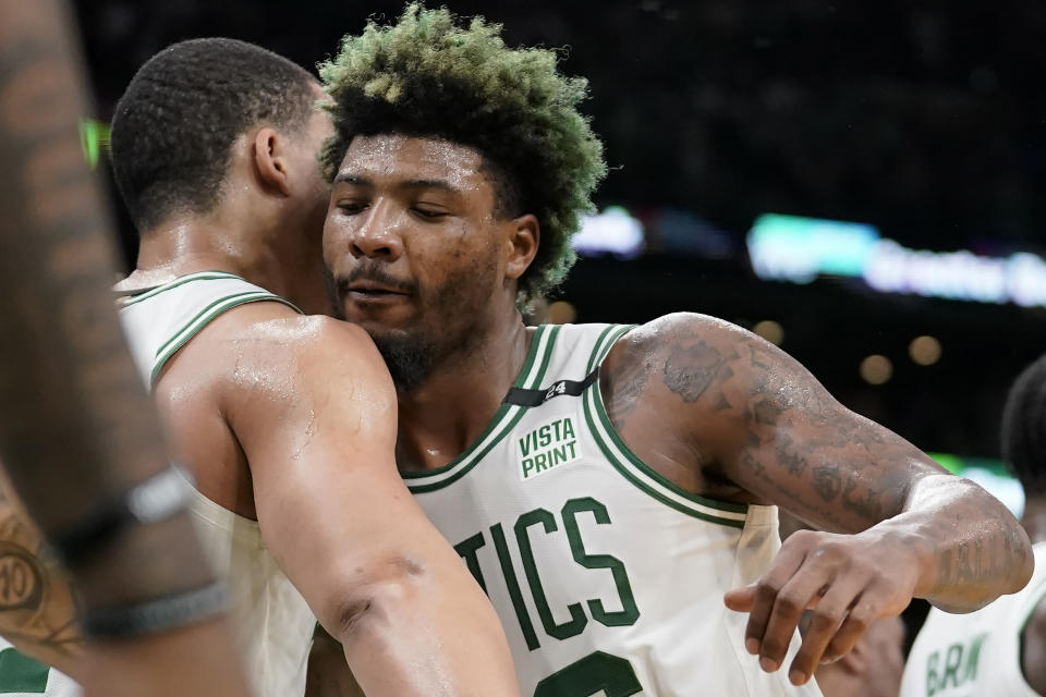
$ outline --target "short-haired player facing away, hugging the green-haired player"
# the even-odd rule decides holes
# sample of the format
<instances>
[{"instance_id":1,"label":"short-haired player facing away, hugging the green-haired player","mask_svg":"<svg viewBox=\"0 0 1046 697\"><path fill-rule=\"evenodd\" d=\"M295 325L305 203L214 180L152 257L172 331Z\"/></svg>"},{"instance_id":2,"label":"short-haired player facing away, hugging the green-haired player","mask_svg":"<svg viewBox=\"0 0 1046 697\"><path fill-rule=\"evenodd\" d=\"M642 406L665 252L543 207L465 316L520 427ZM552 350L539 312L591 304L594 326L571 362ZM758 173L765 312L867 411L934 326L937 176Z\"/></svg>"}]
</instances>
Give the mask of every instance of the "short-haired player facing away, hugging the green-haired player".
<instances>
[{"instance_id":1,"label":"short-haired player facing away, hugging the green-haired player","mask_svg":"<svg viewBox=\"0 0 1046 697\"><path fill-rule=\"evenodd\" d=\"M370 695L515 695L497 615L396 470L378 352L319 316L320 98L297 65L230 39L138 71L112 122L141 232L121 318L195 474L259 694L303 694L315 612Z\"/></svg>"}]
</instances>

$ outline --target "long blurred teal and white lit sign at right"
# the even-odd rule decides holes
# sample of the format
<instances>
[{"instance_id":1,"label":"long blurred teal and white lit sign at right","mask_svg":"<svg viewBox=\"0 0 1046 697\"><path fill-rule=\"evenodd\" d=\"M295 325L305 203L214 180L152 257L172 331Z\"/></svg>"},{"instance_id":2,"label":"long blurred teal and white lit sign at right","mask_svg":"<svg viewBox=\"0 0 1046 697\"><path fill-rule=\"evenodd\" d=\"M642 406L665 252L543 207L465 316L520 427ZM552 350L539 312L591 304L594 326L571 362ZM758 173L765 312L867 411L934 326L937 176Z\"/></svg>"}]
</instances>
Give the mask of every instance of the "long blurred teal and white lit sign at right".
<instances>
[{"instance_id":1,"label":"long blurred teal and white lit sign at right","mask_svg":"<svg viewBox=\"0 0 1046 697\"><path fill-rule=\"evenodd\" d=\"M764 280L841 276L884 293L1046 307L1046 260L1034 254L909 249L874 225L777 213L756 219L747 245L752 269Z\"/></svg>"}]
</instances>

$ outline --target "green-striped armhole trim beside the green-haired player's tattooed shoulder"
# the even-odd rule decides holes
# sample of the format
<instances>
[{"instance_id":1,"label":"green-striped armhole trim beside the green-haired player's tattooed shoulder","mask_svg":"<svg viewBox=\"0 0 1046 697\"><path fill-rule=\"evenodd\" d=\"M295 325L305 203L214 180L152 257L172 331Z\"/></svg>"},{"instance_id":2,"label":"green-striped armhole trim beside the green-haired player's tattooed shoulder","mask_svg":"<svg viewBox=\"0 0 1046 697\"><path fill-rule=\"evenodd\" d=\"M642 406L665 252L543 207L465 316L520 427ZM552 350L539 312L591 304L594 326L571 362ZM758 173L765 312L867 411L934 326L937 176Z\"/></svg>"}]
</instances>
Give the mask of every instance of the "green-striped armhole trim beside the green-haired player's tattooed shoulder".
<instances>
[{"instance_id":1,"label":"green-striped armhole trim beside the green-haired player's tattooed shoulder","mask_svg":"<svg viewBox=\"0 0 1046 697\"><path fill-rule=\"evenodd\" d=\"M610 347L631 326L611 327L612 331L605 330L596 342L596 347L592 352L588 362L588 371L595 369L603 363ZM634 484L645 493L654 497L661 503L676 509L681 513L731 527L744 527L747 517L749 506L744 503L728 503L725 501L715 501L706 499L686 491L676 482L665 478L644 463L625 444L624 440L618 433L610 417L607 414L606 405L603 402L603 394L599 388L599 381L588 389L584 401L585 420L592 430L599 449L603 451L610 464L629 481Z\"/></svg>"}]
</instances>

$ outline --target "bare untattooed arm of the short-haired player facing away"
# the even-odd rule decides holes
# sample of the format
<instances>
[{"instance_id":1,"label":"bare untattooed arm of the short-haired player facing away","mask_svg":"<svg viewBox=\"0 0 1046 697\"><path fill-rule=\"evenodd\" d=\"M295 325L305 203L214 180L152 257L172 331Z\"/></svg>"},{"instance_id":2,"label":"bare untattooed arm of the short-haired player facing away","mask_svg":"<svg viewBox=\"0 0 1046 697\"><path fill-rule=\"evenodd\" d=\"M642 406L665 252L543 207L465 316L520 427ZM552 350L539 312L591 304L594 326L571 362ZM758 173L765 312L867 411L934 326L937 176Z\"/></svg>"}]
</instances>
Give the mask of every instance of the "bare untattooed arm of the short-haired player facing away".
<instances>
[{"instance_id":1,"label":"bare untattooed arm of the short-haired player facing away","mask_svg":"<svg viewBox=\"0 0 1046 697\"><path fill-rule=\"evenodd\" d=\"M391 379L358 328L262 327L227 418L280 566L372 697L518 695L494 609L396 469ZM260 363L254 363L255 358Z\"/></svg>"}]
</instances>

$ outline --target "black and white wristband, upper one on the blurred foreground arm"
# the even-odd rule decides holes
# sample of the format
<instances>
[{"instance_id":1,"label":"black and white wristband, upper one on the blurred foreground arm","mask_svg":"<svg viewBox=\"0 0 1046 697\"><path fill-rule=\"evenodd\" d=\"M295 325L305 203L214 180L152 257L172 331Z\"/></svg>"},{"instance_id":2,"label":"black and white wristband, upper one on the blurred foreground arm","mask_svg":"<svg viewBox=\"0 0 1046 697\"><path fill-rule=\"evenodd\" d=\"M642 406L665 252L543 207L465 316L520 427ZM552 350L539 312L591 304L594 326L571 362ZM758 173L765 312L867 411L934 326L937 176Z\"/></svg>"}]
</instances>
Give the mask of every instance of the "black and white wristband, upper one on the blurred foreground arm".
<instances>
[{"instance_id":1,"label":"black and white wristband, upper one on the blurred foreground arm","mask_svg":"<svg viewBox=\"0 0 1046 697\"><path fill-rule=\"evenodd\" d=\"M191 481L183 467L171 465L51 535L51 546L66 566L75 566L127 528L166 521L184 511Z\"/></svg>"}]
</instances>

